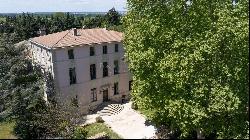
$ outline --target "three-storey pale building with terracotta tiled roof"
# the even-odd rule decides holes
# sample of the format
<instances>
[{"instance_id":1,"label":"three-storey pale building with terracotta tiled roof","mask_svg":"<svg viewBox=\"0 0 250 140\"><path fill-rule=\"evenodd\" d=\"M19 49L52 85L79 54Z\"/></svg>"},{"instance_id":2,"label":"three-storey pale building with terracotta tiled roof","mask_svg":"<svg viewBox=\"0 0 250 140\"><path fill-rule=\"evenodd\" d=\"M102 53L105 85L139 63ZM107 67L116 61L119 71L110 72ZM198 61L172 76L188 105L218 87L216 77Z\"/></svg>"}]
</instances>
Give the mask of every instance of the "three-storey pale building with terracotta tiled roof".
<instances>
[{"instance_id":1,"label":"three-storey pale building with terracotta tiled roof","mask_svg":"<svg viewBox=\"0 0 250 140\"><path fill-rule=\"evenodd\" d=\"M132 77L122 33L72 29L32 38L30 43L33 62L51 73L59 101L75 99L80 110L88 112L102 102L129 98Z\"/></svg>"}]
</instances>

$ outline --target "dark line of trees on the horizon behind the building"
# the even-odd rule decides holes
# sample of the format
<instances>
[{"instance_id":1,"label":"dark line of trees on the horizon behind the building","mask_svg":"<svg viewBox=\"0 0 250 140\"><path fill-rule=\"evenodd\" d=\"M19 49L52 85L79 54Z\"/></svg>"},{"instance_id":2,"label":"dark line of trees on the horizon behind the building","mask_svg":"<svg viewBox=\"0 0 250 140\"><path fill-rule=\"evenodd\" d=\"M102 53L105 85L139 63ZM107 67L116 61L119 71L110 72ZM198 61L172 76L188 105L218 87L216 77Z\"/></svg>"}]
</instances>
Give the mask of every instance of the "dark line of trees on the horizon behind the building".
<instances>
[{"instance_id":1,"label":"dark line of trees on the horizon behind the building","mask_svg":"<svg viewBox=\"0 0 250 140\"><path fill-rule=\"evenodd\" d=\"M40 29L46 34L72 28L107 28L122 31L121 14L115 8L105 15L75 16L70 13L57 12L50 16L39 16L23 13L17 16L6 16L0 21L0 33L7 33L15 42L39 36Z\"/></svg>"}]
</instances>

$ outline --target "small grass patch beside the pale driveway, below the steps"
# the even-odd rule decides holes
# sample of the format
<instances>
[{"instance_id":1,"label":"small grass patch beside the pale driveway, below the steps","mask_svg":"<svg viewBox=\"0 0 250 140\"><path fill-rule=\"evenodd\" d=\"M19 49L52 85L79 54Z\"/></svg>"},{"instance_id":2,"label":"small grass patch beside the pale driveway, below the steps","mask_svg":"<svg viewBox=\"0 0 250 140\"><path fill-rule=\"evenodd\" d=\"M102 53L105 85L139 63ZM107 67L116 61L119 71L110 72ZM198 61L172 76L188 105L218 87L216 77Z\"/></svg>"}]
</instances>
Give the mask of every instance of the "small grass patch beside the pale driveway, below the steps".
<instances>
[{"instance_id":1,"label":"small grass patch beside the pale driveway, below the steps","mask_svg":"<svg viewBox=\"0 0 250 140\"><path fill-rule=\"evenodd\" d=\"M108 134L110 139L121 139L121 137L116 134L113 130L111 130L104 123L93 123L84 127L86 131L88 131L87 137L94 136L95 134L105 132Z\"/></svg>"}]
</instances>

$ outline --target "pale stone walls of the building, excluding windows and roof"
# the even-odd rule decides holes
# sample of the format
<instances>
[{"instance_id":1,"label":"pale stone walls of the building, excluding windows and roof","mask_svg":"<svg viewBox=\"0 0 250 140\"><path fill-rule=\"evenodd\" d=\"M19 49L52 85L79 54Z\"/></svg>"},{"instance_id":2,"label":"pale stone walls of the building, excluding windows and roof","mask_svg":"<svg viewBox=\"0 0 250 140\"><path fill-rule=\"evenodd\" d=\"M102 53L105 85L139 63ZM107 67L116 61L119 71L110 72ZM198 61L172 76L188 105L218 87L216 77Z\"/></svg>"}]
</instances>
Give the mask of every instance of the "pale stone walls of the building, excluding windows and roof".
<instances>
[{"instance_id":1,"label":"pale stone walls of the building, excluding windows and roof","mask_svg":"<svg viewBox=\"0 0 250 140\"><path fill-rule=\"evenodd\" d=\"M119 51L115 52L115 44L119 44ZM108 54L103 54L102 46L107 45ZM88 107L94 107L103 102L101 90L108 89L110 100L120 101L122 95L129 94L129 81L132 79L128 72L128 65L122 60L124 48L122 43L96 44L95 55L90 56L91 46L74 46L47 49L39 44L31 45L34 61L43 65L45 70L53 73L57 97L63 103L70 103L71 98L77 96L80 110L86 112ZM74 50L74 59L68 59L68 49ZM118 60L119 73L114 75L114 60ZM103 78L102 62L108 62L109 76ZM90 79L90 65L96 65L96 79ZM70 85L69 68L76 69L76 84ZM118 95L114 95L114 83L118 82ZM97 101L91 101L91 89L96 88Z\"/></svg>"}]
</instances>

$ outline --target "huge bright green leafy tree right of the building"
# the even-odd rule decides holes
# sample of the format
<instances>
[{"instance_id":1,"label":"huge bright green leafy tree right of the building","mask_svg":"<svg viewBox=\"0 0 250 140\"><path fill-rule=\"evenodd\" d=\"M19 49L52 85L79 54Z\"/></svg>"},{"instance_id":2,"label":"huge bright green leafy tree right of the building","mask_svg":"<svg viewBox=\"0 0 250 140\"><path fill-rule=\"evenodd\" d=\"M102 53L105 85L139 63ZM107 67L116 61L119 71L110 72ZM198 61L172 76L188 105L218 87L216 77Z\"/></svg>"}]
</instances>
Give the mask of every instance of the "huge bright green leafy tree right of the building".
<instances>
[{"instance_id":1,"label":"huge bright green leafy tree right of the building","mask_svg":"<svg viewBox=\"0 0 250 140\"><path fill-rule=\"evenodd\" d=\"M133 98L182 137L248 138L248 1L128 0Z\"/></svg>"}]
</instances>

